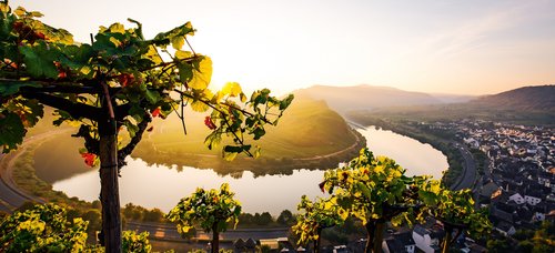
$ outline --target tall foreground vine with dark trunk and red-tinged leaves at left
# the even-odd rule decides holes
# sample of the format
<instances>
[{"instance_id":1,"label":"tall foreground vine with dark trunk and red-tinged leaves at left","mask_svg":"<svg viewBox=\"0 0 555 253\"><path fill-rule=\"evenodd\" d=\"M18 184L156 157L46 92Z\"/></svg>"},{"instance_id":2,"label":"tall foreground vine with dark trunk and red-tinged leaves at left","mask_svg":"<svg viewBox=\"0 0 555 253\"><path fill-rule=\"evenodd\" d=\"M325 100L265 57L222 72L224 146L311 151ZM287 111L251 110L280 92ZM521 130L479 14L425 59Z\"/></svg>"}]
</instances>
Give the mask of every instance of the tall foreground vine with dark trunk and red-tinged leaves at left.
<instances>
[{"instance_id":1,"label":"tall foreground vine with dark trunk and red-tinged leaves at left","mask_svg":"<svg viewBox=\"0 0 555 253\"><path fill-rule=\"evenodd\" d=\"M135 28L113 23L91 34L90 43L77 43L68 31L41 22L40 12L12 11L7 0L0 11L2 152L17 149L44 105L56 109L54 125L79 125L73 135L85 141L81 155L87 164L100 165L101 243L108 252L121 251L119 170L152 118L174 112L186 133L184 107L210 113L205 144L212 149L230 136L234 144L223 146L223 156L231 160L238 153L256 156L260 149L246 138L264 135L265 124L276 124L293 100L271 97L268 89L249 99L234 82L209 90L212 61L191 48L188 37L195 30L190 22L145 39L142 24L129 19ZM129 141L119 142L119 134Z\"/></svg>"}]
</instances>

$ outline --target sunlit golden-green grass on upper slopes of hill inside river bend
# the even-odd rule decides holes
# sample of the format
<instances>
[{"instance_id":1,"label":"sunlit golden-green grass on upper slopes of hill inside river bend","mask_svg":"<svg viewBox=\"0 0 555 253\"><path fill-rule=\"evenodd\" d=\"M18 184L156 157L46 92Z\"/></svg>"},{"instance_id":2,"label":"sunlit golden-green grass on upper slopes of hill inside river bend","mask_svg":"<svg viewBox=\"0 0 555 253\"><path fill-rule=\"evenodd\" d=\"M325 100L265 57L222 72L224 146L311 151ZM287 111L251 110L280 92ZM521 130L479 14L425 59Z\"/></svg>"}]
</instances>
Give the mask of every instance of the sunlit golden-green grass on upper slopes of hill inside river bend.
<instances>
[{"instance_id":1,"label":"sunlit golden-green grass on upper slopes of hill inside river bend","mask_svg":"<svg viewBox=\"0 0 555 253\"><path fill-rule=\"evenodd\" d=\"M221 146L208 150L204 138L210 130L203 124L203 115L188 114L188 135L183 134L181 123L175 118L154 123L154 131L145 138L161 152L194 153L220 155ZM265 158L310 158L333 153L349 148L355 136L345 121L330 110L323 101L297 98L285 111L278 126L269 125L266 135L260 141ZM230 143L224 142L222 143ZM141 149L141 146L140 146Z\"/></svg>"}]
</instances>

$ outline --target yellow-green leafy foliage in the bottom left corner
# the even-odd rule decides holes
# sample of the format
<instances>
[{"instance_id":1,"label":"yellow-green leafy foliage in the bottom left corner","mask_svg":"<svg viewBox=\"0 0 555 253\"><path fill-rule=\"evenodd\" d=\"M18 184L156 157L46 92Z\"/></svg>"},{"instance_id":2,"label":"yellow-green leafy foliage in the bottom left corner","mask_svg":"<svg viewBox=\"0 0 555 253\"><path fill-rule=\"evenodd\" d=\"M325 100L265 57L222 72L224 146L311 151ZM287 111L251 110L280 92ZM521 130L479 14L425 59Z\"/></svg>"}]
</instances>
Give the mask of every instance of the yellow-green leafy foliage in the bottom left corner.
<instances>
[{"instance_id":1,"label":"yellow-green leafy foliage in the bottom left corner","mask_svg":"<svg viewBox=\"0 0 555 253\"><path fill-rule=\"evenodd\" d=\"M67 211L54 204L16 212L0 224L2 252L78 252L85 249L87 224L68 221Z\"/></svg>"}]
</instances>

